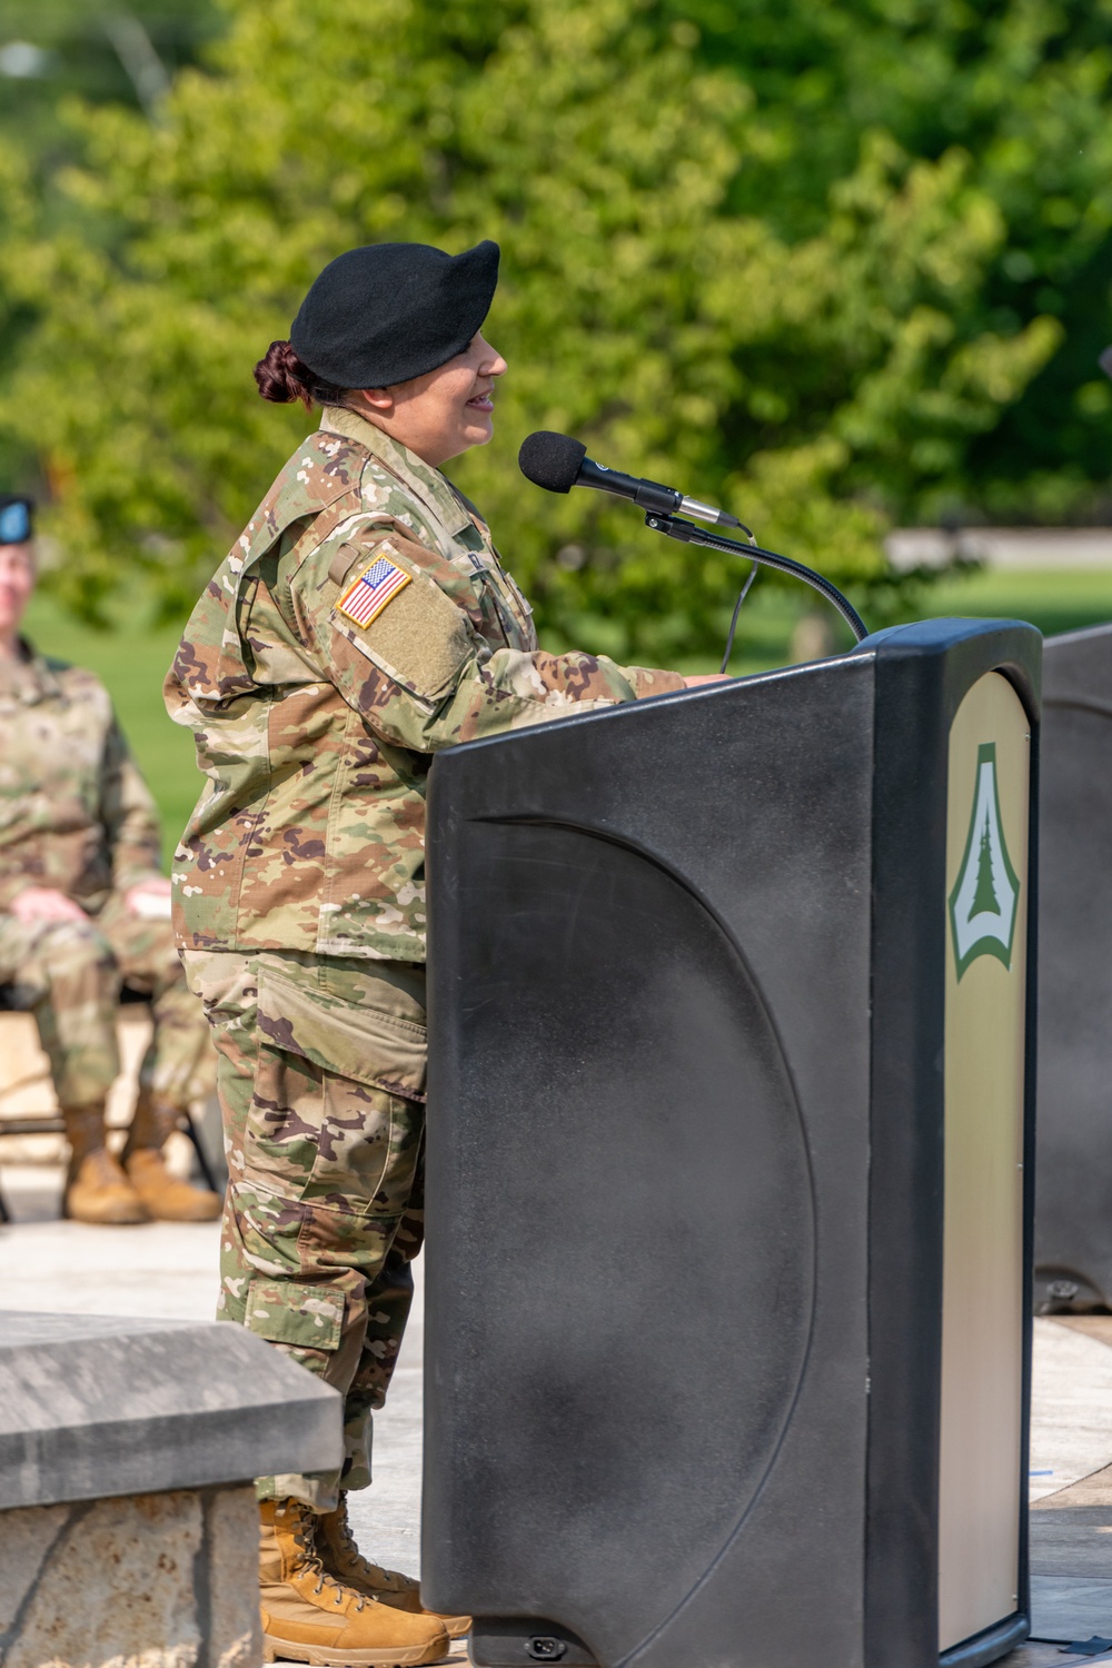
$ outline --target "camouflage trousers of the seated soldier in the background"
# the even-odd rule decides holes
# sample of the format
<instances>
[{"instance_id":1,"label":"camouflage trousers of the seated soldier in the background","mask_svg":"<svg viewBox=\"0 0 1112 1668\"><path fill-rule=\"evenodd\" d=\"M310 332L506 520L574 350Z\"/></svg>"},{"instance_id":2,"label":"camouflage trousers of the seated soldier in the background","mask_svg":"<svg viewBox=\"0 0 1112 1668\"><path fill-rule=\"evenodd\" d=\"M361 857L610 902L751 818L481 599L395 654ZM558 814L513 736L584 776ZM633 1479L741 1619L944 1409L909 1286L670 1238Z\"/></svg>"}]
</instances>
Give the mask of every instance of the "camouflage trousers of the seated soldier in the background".
<instances>
[{"instance_id":1,"label":"camouflage trousers of the seated soldier in the background","mask_svg":"<svg viewBox=\"0 0 1112 1668\"><path fill-rule=\"evenodd\" d=\"M120 1073L120 986L150 997L153 1036L140 1084L173 1106L210 1094L213 1056L185 986L170 921L133 916L112 894L87 921L20 921L0 912L0 984L38 1024L62 1106L103 1101Z\"/></svg>"}]
</instances>

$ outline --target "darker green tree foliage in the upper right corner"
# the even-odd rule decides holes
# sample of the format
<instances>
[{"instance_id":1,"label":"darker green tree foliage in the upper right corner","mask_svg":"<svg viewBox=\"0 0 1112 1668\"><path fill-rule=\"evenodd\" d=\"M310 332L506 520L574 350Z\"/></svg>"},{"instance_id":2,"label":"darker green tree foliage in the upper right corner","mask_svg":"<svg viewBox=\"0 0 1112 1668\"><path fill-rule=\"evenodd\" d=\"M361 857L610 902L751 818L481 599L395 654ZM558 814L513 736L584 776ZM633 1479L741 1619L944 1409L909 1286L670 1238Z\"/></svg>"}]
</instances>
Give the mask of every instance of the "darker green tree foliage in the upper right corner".
<instances>
[{"instance_id":1,"label":"darker green tree foliage in the upper right corner","mask_svg":"<svg viewBox=\"0 0 1112 1668\"><path fill-rule=\"evenodd\" d=\"M885 479L902 517L1109 519L1112 384L1112 3L1109 0L675 0L699 57L742 70L769 148L734 207L789 240L822 225L862 135L965 158L1002 235L975 297L1005 339L1057 319L1060 345L982 427L940 434Z\"/></svg>"}]
</instances>

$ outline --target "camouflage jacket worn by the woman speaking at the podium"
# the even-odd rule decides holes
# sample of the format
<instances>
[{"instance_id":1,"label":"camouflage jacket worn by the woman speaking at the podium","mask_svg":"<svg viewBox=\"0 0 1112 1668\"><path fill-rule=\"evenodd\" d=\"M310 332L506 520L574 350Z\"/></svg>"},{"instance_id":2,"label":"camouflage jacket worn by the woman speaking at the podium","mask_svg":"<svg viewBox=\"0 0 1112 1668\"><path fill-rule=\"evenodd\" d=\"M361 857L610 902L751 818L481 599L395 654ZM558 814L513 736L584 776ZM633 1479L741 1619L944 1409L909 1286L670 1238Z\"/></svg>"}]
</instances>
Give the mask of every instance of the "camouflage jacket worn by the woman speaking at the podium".
<instances>
[{"instance_id":1,"label":"camouflage jacket worn by the woman speaking at the podium","mask_svg":"<svg viewBox=\"0 0 1112 1668\"><path fill-rule=\"evenodd\" d=\"M360 622L350 595L390 595ZM423 961L425 777L453 742L682 687L537 647L445 477L342 409L298 445L167 676L208 786L175 856L188 949Z\"/></svg>"}]
</instances>

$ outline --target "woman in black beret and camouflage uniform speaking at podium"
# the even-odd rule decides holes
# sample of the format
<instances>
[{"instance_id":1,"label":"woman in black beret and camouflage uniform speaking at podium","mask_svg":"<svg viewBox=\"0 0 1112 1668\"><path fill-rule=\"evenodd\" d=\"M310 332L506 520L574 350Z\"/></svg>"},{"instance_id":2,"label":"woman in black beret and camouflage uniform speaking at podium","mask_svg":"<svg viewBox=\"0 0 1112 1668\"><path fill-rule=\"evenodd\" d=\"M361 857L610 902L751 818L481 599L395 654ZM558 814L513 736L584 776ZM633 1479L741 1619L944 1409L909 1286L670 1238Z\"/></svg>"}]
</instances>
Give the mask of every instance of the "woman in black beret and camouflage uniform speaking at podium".
<instances>
[{"instance_id":1,"label":"woman in black beret and camouflage uniform speaking at podium","mask_svg":"<svg viewBox=\"0 0 1112 1668\"><path fill-rule=\"evenodd\" d=\"M498 247L340 255L255 367L323 407L198 602L167 679L208 786L175 919L220 1053L222 1316L345 1398L342 1471L260 1485L268 1660L427 1663L467 1618L363 1560L420 1248L425 777L453 742L682 689L537 647L487 525L440 465L492 435L480 327Z\"/></svg>"}]
</instances>

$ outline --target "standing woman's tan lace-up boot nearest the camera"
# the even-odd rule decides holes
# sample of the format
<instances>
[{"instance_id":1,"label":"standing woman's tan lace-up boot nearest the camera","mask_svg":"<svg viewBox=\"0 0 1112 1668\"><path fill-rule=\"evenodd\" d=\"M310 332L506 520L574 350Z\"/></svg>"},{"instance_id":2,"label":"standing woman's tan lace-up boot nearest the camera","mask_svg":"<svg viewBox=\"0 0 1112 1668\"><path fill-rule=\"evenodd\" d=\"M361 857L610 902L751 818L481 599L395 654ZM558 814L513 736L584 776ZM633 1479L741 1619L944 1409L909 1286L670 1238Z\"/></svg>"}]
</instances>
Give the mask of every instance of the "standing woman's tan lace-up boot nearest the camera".
<instances>
[{"instance_id":1,"label":"standing woman's tan lace-up boot nearest the camera","mask_svg":"<svg viewBox=\"0 0 1112 1668\"><path fill-rule=\"evenodd\" d=\"M260 1518L260 1605L265 1661L317 1668L408 1668L447 1656L435 1616L380 1605L335 1581L317 1548L320 1518L298 1500L267 1500Z\"/></svg>"}]
</instances>

